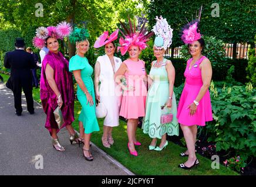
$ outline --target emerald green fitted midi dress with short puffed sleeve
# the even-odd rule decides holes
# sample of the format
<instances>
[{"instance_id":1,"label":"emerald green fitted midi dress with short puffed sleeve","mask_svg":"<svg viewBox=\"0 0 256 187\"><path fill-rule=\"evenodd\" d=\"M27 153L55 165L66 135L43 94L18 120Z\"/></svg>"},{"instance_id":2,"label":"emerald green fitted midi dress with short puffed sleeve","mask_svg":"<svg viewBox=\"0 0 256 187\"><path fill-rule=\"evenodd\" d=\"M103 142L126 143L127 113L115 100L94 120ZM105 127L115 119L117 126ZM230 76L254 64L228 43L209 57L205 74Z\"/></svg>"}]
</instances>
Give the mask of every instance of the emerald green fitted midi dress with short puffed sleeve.
<instances>
[{"instance_id":1,"label":"emerald green fitted midi dress with short puffed sleeve","mask_svg":"<svg viewBox=\"0 0 256 187\"><path fill-rule=\"evenodd\" d=\"M69 71L81 70L81 77L83 83L85 84L86 88L88 89L90 95L93 98L93 106L87 103L87 98L85 93L83 93L82 89L78 85L78 101L82 105L82 110L79 115L79 121L83 123L83 127L85 128L85 134L90 134L93 131L99 131L99 124L97 122L96 117L96 106L95 106L95 92L94 86L92 81L92 73L93 68L90 66L86 57L80 57L78 54L73 56L69 61ZM87 104L86 104L87 103Z\"/></svg>"}]
</instances>

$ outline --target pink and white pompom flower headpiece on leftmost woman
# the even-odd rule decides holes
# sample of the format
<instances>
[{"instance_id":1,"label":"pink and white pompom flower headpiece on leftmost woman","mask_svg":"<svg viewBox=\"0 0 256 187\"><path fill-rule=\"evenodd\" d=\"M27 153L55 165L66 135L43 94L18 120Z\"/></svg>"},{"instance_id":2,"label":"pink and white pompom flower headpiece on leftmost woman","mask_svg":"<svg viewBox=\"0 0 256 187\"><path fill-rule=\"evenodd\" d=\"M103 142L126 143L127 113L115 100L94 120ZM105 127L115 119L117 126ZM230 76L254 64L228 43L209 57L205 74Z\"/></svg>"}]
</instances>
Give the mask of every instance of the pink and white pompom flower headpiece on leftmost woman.
<instances>
[{"instance_id":1,"label":"pink and white pompom flower headpiece on leftmost woman","mask_svg":"<svg viewBox=\"0 0 256 187\"><path fill-rule=\"evenodd\" d=\"M33 46L42 49L46 46L46 38L54 37L63 40L64 37L69 36L72 32L72 26L67 22L60 22L57 26L38 27L36 29L36 36L33 37Z\"/></svg>"}]
</instances>

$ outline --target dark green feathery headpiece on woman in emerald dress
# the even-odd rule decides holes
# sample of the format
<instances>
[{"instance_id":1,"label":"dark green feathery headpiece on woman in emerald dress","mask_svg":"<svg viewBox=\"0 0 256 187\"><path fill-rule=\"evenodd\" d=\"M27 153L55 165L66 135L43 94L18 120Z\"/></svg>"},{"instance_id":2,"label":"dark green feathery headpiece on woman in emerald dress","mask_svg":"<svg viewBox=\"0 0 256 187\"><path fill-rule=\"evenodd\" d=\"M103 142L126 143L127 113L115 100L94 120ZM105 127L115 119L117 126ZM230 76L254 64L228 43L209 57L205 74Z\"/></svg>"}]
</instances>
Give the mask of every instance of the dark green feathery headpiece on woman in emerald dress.
<instances>
[{"instance_id":1,"label":"dark green feathery headpiece on woman in emerald dress","mask_svg":"<svg viewBox=\"0 0 256 187\"><path fill-rule=\"evenodd\" d=\"M84 27L78 28L75 27L73 32L69 35L70 43L76 43L78 41L86 40L90 36L89 30L85 29Z\"/></svg>"}]
</instances>

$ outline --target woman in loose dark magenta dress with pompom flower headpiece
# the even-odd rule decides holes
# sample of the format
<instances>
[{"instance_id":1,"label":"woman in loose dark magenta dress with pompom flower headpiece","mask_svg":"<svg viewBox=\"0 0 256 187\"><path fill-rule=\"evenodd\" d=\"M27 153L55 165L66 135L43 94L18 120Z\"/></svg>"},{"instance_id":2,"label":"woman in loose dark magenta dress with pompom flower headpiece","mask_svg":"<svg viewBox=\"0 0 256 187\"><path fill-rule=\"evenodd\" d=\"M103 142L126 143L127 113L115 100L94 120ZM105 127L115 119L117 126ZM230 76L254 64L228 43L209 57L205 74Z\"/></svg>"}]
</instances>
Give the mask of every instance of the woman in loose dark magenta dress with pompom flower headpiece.
<instances>
[{"instance_id":1,"label":"woman in loose dark magenta dress with pompom flower headpiece","mask_svg":"<svg viewBox=\"0 0 256 187\"><path fill-rule=\"evenodd\" d=\"M62 28L62 29L60 29ZM45 44L49 52L42 62L40 97L43 110L46 113L45 127L52 137L52 145L58 151L65 151L60 145L57 133L63 127L69 131L70 143L78 141L78 134L72 127L74 121L74 90L72 74L69 72L69 62L59 52L58 39L68 36L71 26L62 22L58 26L39 27L36 37L33 39L34 46L41 49ZM53 111L60 107L64 123L58 128Z\"/></svg>"}]
</instances>

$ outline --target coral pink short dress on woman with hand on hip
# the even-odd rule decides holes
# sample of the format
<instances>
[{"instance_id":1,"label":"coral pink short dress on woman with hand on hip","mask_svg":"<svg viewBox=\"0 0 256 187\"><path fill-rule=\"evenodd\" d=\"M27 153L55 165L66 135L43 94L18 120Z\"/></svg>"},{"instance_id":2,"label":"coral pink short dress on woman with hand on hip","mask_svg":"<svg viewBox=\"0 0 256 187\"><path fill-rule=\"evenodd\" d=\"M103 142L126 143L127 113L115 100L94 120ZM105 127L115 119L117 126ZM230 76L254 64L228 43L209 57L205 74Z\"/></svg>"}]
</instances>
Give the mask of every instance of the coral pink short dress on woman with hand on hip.
<instances>
[{"instance_id":1,"label":"coral pink short dress on woman with hand on hip","mask_svg":"<svg viewBox=\"0 0 256 187\"><path fill-rule=\"evenodd\" d=\"M123 61L128 71L124 74L126 85L133 86L134 91L123 91L123 99L120 109L120 116L126 119L137 119L145 116L145 105L147 96L147 87L143 78L146 77L145 64L142 60L132 61L127 59Z\"/></svg>"}]
</instances>

